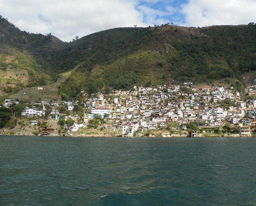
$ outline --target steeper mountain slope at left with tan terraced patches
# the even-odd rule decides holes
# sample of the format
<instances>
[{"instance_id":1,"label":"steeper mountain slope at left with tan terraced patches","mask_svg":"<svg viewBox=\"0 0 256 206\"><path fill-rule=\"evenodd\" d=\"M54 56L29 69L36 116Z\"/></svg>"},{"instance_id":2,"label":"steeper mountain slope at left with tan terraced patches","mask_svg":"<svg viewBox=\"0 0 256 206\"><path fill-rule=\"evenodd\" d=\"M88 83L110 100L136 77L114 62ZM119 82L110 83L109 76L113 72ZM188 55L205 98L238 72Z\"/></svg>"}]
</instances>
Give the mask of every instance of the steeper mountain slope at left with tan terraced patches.
<instances>
[{"instance_id":1,"label":"steeper mountain slope at left with tan terraced patches","mask_svg":"<svg viewBox=\"0 0 256 206\"><path fill-rule=\"evenodd\" d=\"M0 95L54 81L50 59L65 43L52 35L27 33L0 16Z\"/></svg>"}]
</instances>

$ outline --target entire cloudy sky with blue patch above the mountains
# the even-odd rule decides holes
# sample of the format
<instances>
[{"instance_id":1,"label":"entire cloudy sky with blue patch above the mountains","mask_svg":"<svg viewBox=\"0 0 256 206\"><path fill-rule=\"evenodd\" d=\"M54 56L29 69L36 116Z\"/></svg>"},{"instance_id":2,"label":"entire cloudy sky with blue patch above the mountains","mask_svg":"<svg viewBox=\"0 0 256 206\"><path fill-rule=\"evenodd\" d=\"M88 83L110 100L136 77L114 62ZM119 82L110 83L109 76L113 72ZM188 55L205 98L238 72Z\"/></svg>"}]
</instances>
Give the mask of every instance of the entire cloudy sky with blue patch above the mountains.
<instances>
[{"instance_id":1,"label":"entire cloudy sky with blue patch above the mountains","mask_svg":"<svg viewBox=\"0 0 256 206\"><path fill-rule=\"evenodd\" d=\"M115 27L238 25L256 22L256 0L0 0L21 30L63 41Z\"/></svg>"}]
</instances>

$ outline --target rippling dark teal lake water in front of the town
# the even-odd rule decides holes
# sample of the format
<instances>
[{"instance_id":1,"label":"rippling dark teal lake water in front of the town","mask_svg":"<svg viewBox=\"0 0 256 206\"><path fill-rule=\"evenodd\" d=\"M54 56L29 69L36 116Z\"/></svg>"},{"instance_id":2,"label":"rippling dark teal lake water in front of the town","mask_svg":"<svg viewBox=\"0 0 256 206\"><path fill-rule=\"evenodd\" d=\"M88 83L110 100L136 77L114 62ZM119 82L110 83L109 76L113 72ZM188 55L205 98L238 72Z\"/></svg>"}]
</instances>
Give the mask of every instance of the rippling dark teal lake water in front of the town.
<instances>
[{"instance_id":1,"label":"rippling dark teal lake water in front of the town","mask_svg":"<svg viewBox=\"0 0 256 206\"><path fill-rule=\"evenodd\" d=\"M256 138L0 136L0 205L256 205Z\"/></svg>"}]
</instances>

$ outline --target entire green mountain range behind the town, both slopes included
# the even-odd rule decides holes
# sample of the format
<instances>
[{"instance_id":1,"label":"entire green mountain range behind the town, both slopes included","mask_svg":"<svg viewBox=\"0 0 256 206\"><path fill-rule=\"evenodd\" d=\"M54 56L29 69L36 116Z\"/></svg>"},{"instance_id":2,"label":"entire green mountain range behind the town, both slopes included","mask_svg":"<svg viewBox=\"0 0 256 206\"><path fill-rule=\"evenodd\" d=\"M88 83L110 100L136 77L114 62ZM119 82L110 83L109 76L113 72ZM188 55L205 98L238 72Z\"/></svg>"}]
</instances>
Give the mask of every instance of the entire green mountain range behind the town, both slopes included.
<instances>
[{"instance_id":1,"label":"entire green mountain range behind the town, both slopes included","mask_svg":"<svg viewBox=\"0 0 256 206\"><path fill-rule=\"evenodd\" d=\"M0 71L4 68L27 71L23 87L52 83L70 71L58 91L69 98L81 90L108 92L171 80L239 80L256 70L256 25L115 28L64 43L50 34L20 31L2 18ZM8 76L7 81L11 85Z\"/></svg>"}]
</instances>

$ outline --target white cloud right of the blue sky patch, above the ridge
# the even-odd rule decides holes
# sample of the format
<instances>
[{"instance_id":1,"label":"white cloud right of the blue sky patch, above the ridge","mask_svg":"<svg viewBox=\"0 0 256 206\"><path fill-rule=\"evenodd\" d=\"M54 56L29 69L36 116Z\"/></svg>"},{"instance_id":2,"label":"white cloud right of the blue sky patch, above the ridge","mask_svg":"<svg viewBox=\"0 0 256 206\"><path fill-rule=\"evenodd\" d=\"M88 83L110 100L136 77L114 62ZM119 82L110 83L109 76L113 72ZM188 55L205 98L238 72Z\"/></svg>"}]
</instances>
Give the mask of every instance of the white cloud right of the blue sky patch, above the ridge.
<instances>
[{"instance_id":1,"label":"white cloud right of the blue sky patch, above the ridge","mask_svg":"<svg viewBox=\"0 0 256 206\"><path fill-rule=\"evenodd\" d=\"M255 20L255 0L190 0L184 4L185 25L238 25Z\"/></svg>"}]
</instances>

